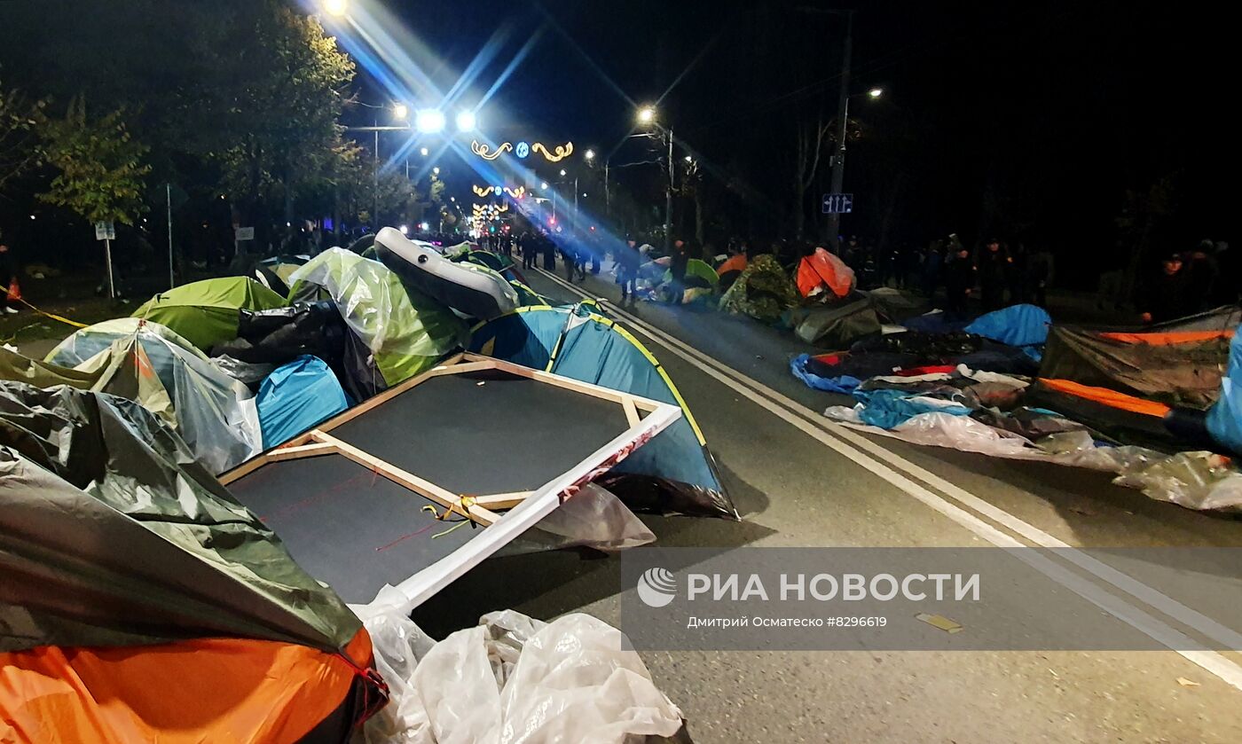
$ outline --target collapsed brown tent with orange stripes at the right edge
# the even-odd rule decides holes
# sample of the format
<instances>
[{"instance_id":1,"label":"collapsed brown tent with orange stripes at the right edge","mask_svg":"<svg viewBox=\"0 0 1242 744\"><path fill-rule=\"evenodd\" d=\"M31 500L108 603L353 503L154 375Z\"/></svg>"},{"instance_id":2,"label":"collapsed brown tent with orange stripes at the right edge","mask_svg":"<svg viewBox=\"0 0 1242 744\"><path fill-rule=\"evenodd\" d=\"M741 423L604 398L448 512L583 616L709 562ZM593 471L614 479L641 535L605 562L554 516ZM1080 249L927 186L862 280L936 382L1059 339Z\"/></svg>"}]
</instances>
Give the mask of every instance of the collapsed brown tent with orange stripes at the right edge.
<instances>
[{"instance_id":1,"label":"collapsed brown tent with orange stripes at the right edge","mask_svg":"<svg viewBox=\"0 0 1242 744\"><path fill-rule=\"evenodd\" d=\"M1202 410L1220 392L1232 335L1232 328L1109 333L1053 325L1040 376Z\"/></svg>"}]
</instances>

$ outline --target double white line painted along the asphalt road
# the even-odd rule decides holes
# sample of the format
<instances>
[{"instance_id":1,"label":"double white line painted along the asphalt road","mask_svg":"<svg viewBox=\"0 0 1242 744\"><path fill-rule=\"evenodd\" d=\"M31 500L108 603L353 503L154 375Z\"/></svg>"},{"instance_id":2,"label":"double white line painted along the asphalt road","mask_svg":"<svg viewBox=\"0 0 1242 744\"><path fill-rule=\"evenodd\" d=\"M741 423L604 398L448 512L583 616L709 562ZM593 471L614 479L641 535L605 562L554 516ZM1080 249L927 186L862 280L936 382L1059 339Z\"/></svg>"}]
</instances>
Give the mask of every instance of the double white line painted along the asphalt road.
<instances>
[{"instance_id":1,"label":"double white line painted along the asphalt road","mask_svg":"<svg viewBox=\"0 0 1242 744\"><path fill-rule=\"evenodd\" d=\"M575 294L591 298L591 296L582 289L568 284L560 279L560 277L553 276L543 270L540 273L548 276L550 279L556 282L560 287L574 292ZM681 339L677 339L658 328L650 325L648 323L641 320L626 313L625 311L617 308L611 302L607 303L610 312L616 313L619 317L628 320L628 323L637 329L643 335L647 335L652 340L666 347L669 352L676 354L683 361L691 364L692 366L699 369L708 376L715 379L723 385L733 389L734 391L745 395L755 405L765 409L770 414L777 416L779 419L791 424L804 433L811 436L816 441L823 443L831 450L837 451L848 460L858 463L866 470L871 471L882 479L889 482L898 489L905 492L932 509L939 512L940 514L948 517L961 527L975 533L980 538L987 540L989 543L999 548L1021 548L1022 543L1017 542L1009 534L1005 534L992 527L991 524L984 522L979 517L971 514L970 512L958 507L956 504L949 502L939 494L932 493L927 488L919 486L917 482L907 478L905 476L893 471L891 467L886 466L883 462L874 460L863 452L873 452L878 455L884 461L888 461L894 467L905 470L907 472L918 473L922 479L924 479L929 486L941 488L948 486L945 491L953 491L956 493L950 493L954 498L961 503L969 504L976 508L980 513L987 514L989 517L996 519L1000 524L1009 527L1017 534L1030 539L1031 542L1040 544L1043 548L1057 548L1057 555L1071 560L1074 565L1092 573L1103 581L1112 584L1113 586L1130 594L1135 599L1139 599L1150 606L1165 612L1170 617L1174 617L1190 627L1194 627L1199 632L1215 641L1222 643L1226 648L1242 650L1242 642L1238 641L1238 633L1235 631L1217 624L1216 621L1181 605L1180 602L1170 599L1169 596L1141 584L1140 581L1095 560L1094 558L1086 555L1077 548L1068 545L1058 540L1057 538L1045 533L1043 530L1027 524L1026 522L1013 517L1012 514L984 502L979 497L975 497L966 491L953 486L951 483L939 478L928 471L918 467L914 463L905 461L898 455L877 446L874 442L858 436L854 432L847 431L843 427L833 426L830 421L821 419L810 419L806 412L811 412L810 409L801 406L796 401L781 395L780 392L763 385L761 383L750 379L724 364L707 356L698 349L689 347ZM776 405L776 401L781 406ZM816 415L815 412L811 412ZM817 415L816 415L817 416ZM848 436L840 436L841 433L847 433ZM925 476L925 477L924 477ZM979 506L976 506L979 504ZM980 508L982 507L982 508ZM1238 691L1242 691L1242 666L1230 661L1228 658L1221 656L1215 651L1196 651L1190 650L1189 646L1192 645L1190 638L1187 638L1181 632L1174 630L1169 625L1161 622L1160 620L1148 615L1146 612L1129 605L1115 596L1103 591L1100 587L1084 581L1081 576L1066 571L1062 566L1048 560L1043 555L1033 550L1018 550L1015 555L1036 568L1045 575L1048 575L1053 580L1067 586L1083 599L1090 601L1092 604L1104 609L1119 620L1123 620L1131 627L1141 631L1153 640L1167 646L1169 648L1176 651L1179 655L1191 661L1192 663L1202 667L1203 669L1216 674L1226 683L1231 684ZM1038 560L1027 560L1027 556L1036 556ZM1038 565L1037 565L1038 564Z\"/></svg>"}]
</instances>

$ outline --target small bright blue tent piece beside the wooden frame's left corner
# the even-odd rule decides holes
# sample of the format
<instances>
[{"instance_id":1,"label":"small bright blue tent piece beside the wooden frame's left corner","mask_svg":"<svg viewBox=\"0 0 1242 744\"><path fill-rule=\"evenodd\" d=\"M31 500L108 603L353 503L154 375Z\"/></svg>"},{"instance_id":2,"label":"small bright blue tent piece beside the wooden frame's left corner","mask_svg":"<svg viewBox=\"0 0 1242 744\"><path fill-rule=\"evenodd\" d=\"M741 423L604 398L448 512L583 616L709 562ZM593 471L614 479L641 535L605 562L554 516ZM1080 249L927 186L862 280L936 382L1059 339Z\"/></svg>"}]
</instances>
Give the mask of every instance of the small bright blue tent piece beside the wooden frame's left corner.
<instances>
[{"instance_id":1,"label":"small bright blue tent piece beside the wooden frame's left corner","mask_svg":"<svg viewBox=\"0 0 1242 744\"><path fill-rule=\"evenodd\" d=\"M258 389L258 425L263 448L283 445L348 409L351 404L337 375L318 356L298 356L279 366Z\"/></svg>"}]
</instances>

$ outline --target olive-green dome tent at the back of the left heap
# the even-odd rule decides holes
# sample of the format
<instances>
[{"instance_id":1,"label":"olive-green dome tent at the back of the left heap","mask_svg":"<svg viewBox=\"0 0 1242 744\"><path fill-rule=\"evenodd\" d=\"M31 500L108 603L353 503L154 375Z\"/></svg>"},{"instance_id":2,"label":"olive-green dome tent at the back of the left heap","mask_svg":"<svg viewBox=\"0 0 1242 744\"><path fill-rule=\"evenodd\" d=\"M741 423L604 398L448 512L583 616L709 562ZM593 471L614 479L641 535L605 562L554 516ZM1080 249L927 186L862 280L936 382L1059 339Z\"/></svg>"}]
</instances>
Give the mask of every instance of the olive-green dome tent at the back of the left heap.
<instances>
[{"instance_id":1,"label":"olive-green dome tent at the back of the left heap","mask_svg":"<svg viewBox=\"0 0 1242 744\"><path fill-rule=\"evenodd\" d=\"M246 277L222 277L160 292L134 311L170 328L199 349L237 338L237 311L284 307L284 298Z\"/></svg>"}]
</instances>

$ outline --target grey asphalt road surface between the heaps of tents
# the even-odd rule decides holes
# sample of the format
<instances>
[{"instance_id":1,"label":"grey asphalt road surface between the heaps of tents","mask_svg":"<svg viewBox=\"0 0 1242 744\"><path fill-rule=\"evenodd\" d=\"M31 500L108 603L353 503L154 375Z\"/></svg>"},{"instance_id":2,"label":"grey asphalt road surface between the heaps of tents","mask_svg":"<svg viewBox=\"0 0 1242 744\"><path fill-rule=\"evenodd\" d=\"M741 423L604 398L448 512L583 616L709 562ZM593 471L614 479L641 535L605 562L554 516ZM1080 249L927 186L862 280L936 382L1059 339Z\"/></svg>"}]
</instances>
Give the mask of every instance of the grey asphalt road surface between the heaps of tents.
<instances>
[{"instance_id":1,"label":"grey asphalt road surface between the heaps of tents","mask_svg":"<svg viewBox=\"0 0 1242 744\"><path fill-rule=\"evenodd\" d=\"M602 276L578 291L561 277L528 278L565 302L619 294ZM681 389L743 513L739 523L645 517L660 545L1242 547L1242 520L1158 503L1100 473L835 426L820 412L845 399L797 383L787 370L804 350L796 339L749 319L648 303L615 317ZM1180 615L1180 605L1125 575L1073 568L1159 622L1202 630L1201 617ZM1218 570L1242 576L1237 565ZM620 624L626 590L633 589L621 585L615 558L497 558L415 619L433 633L502 607L543 619L584 611ZM1216 611L1238 627L1242 610ZM1242 742L1242 655L1235 652L676 651L643 658L696 742Z\"/></svg>"}]
</instances>

